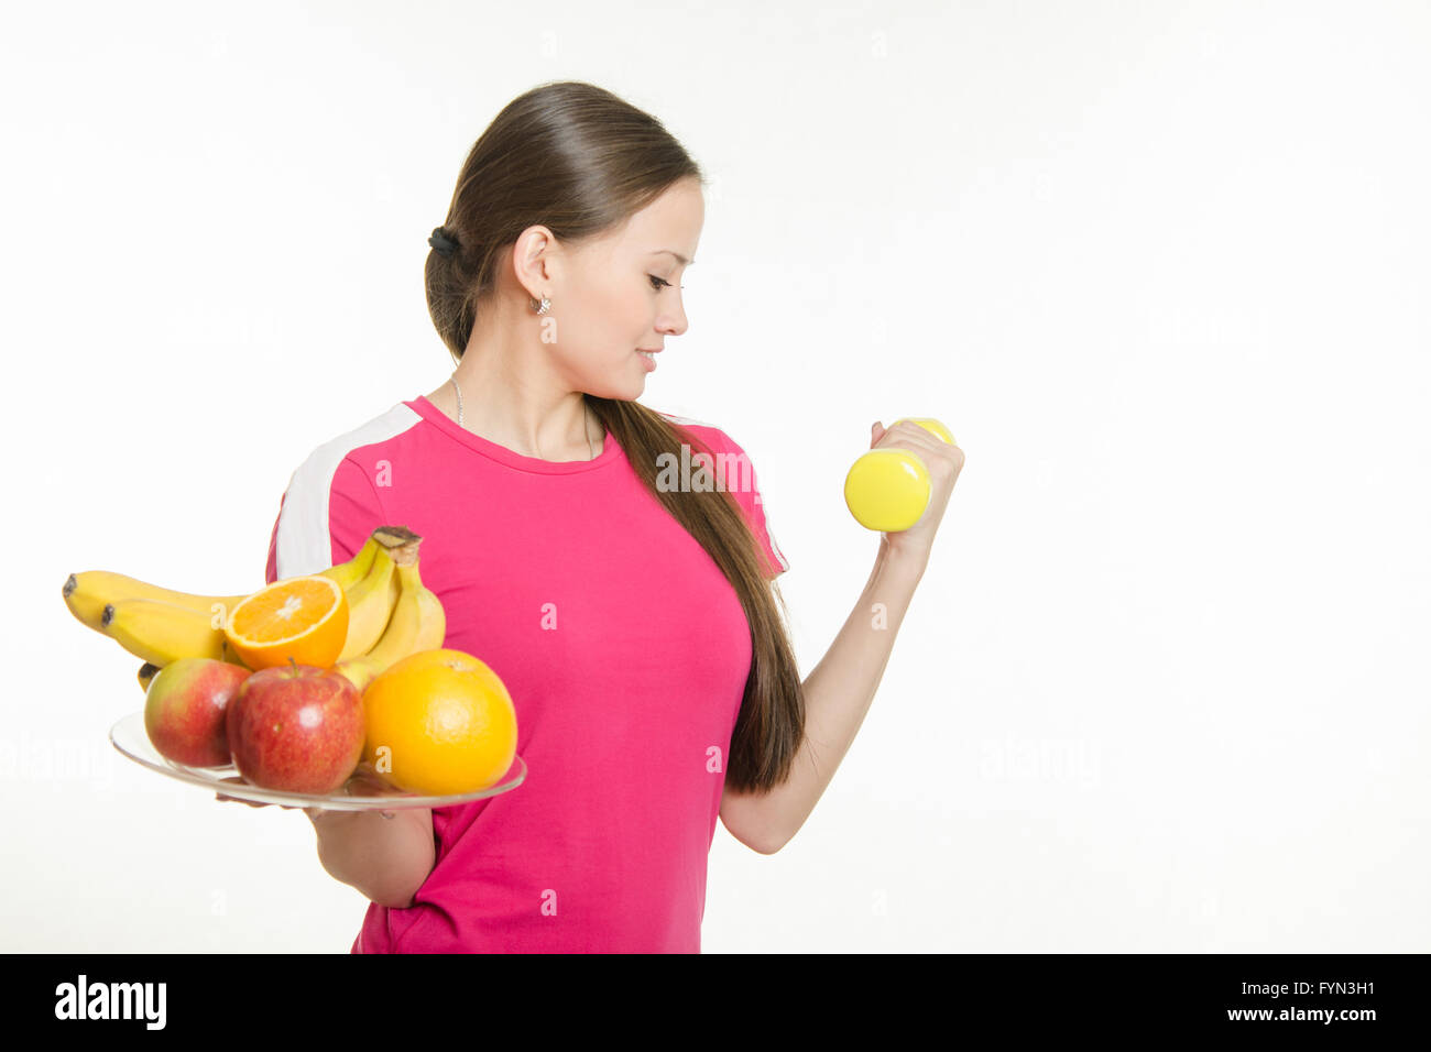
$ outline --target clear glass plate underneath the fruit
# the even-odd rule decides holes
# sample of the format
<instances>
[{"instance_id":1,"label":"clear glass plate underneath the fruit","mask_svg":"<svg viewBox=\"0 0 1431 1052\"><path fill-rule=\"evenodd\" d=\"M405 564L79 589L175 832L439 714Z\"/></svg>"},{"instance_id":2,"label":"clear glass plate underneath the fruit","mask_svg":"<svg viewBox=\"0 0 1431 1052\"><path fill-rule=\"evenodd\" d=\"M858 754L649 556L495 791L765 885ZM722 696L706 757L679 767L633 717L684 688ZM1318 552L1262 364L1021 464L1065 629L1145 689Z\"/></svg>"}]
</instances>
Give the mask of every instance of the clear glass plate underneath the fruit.
<instances>
[{"instance_id":1,"label":"clear glass plate underneath the fruit","mask_svg":"<svg viewBox=\"0 0 1431 1052\"><path fill-rule=\"evenodd\" d=\"M192 786L212 789L235 800L249 800L252 803L276 803L289 807L325 807L336 812L396 812L408 807L452 807L472 800L484 800L509 789L517 789L527 779L527 764L522 757L515 757L507 774L495 786L478 790L477 793L459 793L456 796L419 796L406 793L392 786L373 771L368 763L359 763L358 770L343 783L336 793L318 796L313 793L289 793L282 789L260 789L239 777L238 769L228 763L222 767L186 767L159 754L145 730L145 711L130 713L123 720L109 729L109 740L120 753L135 763L143 764L160 774L187 781Z\"/></svg>"}]
</instances>

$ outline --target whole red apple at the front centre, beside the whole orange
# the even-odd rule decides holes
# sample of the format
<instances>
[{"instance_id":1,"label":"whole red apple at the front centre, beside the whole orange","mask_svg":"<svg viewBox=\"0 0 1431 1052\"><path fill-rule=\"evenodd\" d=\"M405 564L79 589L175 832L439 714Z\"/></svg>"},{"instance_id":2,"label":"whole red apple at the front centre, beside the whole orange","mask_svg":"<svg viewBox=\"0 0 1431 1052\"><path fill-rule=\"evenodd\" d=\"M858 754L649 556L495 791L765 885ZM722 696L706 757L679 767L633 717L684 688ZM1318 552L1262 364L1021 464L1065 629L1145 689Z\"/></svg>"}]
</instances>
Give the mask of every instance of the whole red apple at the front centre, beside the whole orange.
<instances>
[{"instance_id":1,"label":"whole red apple at the front centre, beside the whole orange","mask_svg":"<svg viewBox=\"0 0 1431 1052\"><path fill-rule=\"evenodd\" d=\"M362 694L332 668L292 658L260 668L229 701L226 720L233 766L263 789L332 793L362 759Z\"/></svg>"}]
</instances>

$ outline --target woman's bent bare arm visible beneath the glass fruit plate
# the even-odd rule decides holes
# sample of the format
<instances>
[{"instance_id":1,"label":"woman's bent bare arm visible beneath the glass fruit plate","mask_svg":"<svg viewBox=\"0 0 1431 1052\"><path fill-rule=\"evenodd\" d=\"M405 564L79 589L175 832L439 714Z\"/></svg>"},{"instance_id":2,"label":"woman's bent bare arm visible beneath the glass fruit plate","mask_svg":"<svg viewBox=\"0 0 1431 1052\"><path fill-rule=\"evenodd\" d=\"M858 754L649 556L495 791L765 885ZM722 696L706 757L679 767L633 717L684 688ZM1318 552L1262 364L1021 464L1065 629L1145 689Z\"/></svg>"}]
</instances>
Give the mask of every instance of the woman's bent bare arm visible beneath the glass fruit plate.
<instances>
[{"instance_id":1,"label":"woman's bent bare arm visible beneath the glass fruit plate","mask_svg":"<svg viewBox=\"0 0 1431 1052\"><path fill-rule=\"evenodd\" d=\"M406 907L436 860L432 812L322 810L309 813L318 833L318 860L335 879L379 906Z\"/></svg>"}]
</instances>

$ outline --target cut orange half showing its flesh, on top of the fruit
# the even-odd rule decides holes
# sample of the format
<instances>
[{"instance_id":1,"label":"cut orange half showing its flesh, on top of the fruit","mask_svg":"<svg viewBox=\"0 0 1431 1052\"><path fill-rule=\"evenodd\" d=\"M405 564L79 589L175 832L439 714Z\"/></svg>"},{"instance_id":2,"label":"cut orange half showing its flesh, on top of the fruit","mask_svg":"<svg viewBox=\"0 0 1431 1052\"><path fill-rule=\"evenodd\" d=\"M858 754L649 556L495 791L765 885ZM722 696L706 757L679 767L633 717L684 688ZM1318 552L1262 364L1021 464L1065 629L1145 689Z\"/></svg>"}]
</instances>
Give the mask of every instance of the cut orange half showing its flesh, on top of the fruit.
<instances>
[{"instance_id":1,"label":"cut orange half showing its flesh, on top of the fruit","mask_svg":"<svg viewBox=\"0 0 1431 1052\"><path fill-rule=\"evenodd\" d=\"M322 574L288 577L239 603L223 634L253 671L289 658L328 668L348 641L348 598Z\"/></svg>"}]
</instances>

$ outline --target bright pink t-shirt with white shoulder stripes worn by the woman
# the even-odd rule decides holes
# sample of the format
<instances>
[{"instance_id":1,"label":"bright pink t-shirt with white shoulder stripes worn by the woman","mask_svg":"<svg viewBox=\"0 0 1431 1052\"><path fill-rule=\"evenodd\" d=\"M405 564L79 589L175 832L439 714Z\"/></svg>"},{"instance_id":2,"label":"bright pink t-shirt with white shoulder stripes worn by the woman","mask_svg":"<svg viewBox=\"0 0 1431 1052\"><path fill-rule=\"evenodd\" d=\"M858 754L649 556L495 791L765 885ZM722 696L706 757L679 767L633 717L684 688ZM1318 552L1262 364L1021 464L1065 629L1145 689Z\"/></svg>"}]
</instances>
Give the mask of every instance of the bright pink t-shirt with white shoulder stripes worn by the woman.
<instances>
[{"instance_id":1,"label":"bright pink t-shirt with white shoulder stripes worn by the woman","mask_svg":"<svg viewBox=\"0 0 1431 1052\"><path fill-rule=\"evenodd\" d=\"M783 573L744 451L716 427L663 415L738 458L713 475L734 491L767 574ZM700 464L693 449L685 478ZM514 790L432 812L432 873L411 907L369 903L352 952L700 952L751 660L744 610L714 560L611 434L592 461L542 461L459 428L422 395L299 465L266 577L342 562L384 524L422 535L444 646L507 684L528 773Z\"/></svg>"}]
</instances>

